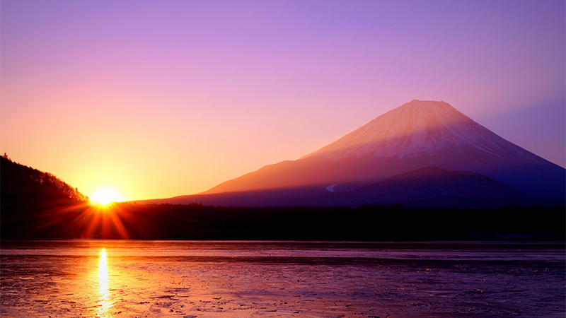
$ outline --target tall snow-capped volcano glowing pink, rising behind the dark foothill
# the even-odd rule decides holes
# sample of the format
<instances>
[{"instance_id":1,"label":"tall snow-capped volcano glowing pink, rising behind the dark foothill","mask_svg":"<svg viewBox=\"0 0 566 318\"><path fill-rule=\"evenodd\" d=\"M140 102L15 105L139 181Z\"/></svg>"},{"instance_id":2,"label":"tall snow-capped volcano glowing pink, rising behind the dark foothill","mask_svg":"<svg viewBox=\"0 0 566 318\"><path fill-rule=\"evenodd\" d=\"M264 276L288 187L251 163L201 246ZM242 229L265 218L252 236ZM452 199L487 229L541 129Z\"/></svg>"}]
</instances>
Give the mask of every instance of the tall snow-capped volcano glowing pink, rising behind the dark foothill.
<instances>
[{"instance_id":1,"label":"tall snow-capped volcano glowing pink, rising behind the dark foothill","mask_svg":"<svg viewBox=\"0 0 566 318\"><path fill-rule=\"evenodd\" d=\"M201 194L151 201L191 203L224 198L219 200L223 204L254 206L259 198L265 204L279 198L289 205L308 205L328 194L336 198L349 192L359 197L362 188L367 191L371 184L425 167L475 172L519 190L516 196L566 201L564 168L502 139L446 102L420 100L386 112L297 160L266 165ZM244 197L248 200L238 201ZM319 199L305 200L314 197Z\"/></svg>"}]
</instances>

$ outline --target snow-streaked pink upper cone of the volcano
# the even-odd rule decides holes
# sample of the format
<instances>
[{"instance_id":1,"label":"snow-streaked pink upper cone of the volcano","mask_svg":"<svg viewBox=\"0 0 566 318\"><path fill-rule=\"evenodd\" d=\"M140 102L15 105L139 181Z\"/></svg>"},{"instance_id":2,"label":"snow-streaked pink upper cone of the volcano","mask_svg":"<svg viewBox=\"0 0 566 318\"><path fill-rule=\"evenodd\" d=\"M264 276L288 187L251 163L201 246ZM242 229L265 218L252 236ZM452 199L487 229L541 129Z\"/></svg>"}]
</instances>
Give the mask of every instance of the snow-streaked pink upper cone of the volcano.
<instances>
[{"instance_id":1,"label":"snow-streaked pink upper cone of the volcano","mask_svg":"<svg viewBox=\"0 0 566 318\"><path fill-rule=\"evenodd\" d=\"M465 145L497 155L507 144L446 102L412 100L302 158L414 158Z\"/></svg>"}]
</instances>

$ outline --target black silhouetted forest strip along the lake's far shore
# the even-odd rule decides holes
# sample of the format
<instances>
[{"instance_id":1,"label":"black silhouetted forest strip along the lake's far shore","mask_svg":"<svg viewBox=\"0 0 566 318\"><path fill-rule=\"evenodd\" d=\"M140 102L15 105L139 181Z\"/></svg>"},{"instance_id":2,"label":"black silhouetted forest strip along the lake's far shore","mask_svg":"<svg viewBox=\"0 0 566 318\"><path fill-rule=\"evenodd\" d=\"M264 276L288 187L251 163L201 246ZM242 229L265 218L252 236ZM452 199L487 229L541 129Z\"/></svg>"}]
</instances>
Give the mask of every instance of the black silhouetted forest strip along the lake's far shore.
<instances>
[{"instance_id":1,"label":"black silhouetted forest strip along the lake's far shore","mask_svg":"<svg viewBox=\"0 0 566 318\"><path fill-rule=\"evenodd\" d=\"M564 240L564 208L224 208L115 203L2 211L1 238L135 240ZM5 213L6 212L6 213ZM25 219L22 219L25 216ZM77 220L80 220L78 222Z\"/></svg>"}]
</instances>

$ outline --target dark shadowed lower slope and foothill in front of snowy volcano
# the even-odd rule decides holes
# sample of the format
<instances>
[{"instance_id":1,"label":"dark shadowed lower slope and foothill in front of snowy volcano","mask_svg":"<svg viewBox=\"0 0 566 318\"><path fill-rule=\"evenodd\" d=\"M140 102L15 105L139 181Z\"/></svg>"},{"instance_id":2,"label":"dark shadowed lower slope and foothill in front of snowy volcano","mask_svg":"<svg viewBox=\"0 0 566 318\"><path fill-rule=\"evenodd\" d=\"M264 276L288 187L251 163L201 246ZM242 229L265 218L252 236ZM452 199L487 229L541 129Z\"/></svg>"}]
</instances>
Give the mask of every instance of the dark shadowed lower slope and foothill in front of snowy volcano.
<instances>
[{"instance_id":1,"label":"dark shadowed lower slope and foothill in front of snowy volcano","mask_svg":"<svg viewBox=\"0 0 566 318\"><path fill-rule=\"evenodd\" d=\"M139 204L204 204L204 206L284 207L393 206L406 208L504 208L504 206L560 206L536 199L507 184L475 172L424 167L349 192L335 187L253 190L219 194L176 196L171 199L137 201Z\"/></svg>"}]
</instances>

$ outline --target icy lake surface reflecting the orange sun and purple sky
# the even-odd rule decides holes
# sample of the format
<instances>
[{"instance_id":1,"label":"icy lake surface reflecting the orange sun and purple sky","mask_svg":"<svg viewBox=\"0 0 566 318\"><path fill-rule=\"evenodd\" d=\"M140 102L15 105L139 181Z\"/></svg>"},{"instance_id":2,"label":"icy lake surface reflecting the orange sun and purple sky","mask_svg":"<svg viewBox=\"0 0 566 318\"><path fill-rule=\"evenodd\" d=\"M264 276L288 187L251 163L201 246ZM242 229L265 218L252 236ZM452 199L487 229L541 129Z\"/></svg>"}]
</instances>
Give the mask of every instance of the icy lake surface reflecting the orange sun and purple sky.
<instances>
[{"instance_id":1,"label":"icy lake surface reflecting the orange sun and purple sky","mask_svg":"<svg viewBox=\"0 0 566 318\"><path fill-rule=\"evenodd\" d=\"M564 242L3 241L7 317L565 317Z\"/></svg>"}]
</instances>

